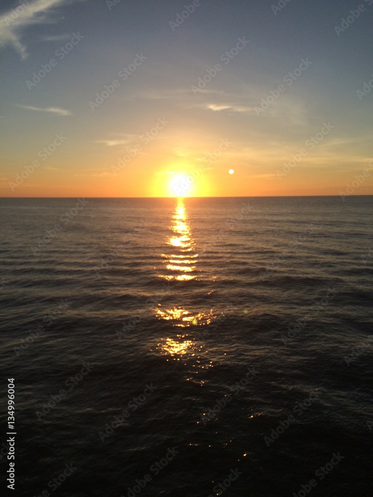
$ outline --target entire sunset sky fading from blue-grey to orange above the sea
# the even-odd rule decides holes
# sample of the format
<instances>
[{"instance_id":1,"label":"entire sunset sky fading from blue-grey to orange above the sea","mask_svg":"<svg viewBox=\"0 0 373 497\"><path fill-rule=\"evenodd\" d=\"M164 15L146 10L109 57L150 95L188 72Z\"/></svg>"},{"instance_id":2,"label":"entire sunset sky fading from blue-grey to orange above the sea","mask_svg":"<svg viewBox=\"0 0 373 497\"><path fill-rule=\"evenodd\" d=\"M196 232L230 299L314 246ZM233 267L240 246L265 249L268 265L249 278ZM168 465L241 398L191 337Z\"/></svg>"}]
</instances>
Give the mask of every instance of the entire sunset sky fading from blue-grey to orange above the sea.
<instances>
[{"instance_id":1,"label":"entire sunset sky fading from blue-grey to orange above the sea","mask_svg":"<svg viewBox=\"0 0 373 497\"><path fill-rule=\"evenodd\" d=\"M116 2L1 2L1 196L168 196L193 171L185 196L338 195L355 175L354 194L373 193L373 90L357 94L373 80L373 0L344 31L359 1L201 0L180 25L190 0Z\"/></svg>"}]
</instances>

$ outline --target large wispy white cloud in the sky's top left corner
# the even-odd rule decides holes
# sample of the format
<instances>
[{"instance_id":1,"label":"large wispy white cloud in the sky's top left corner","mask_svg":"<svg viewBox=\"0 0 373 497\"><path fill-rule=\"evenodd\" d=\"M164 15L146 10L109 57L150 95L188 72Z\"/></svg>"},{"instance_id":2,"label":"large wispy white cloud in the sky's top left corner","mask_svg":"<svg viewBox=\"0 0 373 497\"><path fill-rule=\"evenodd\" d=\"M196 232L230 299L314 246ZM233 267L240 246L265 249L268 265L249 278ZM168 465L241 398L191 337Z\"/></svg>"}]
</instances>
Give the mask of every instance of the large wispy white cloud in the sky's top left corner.
<instances>
[{"instance_id":1,"label":"large wispy white cloud in the sky's top left corner","mask_svg":"<svg viewBox=\"0 0 373 497\"><path fill-rule=\"evenodd\" d=\"M12 45L20 54L22 60L28 54L22 42L22 31L34 24L50 24L56 22L50 11L59 5L71 3L72 0L34 0L29 1L21 12L15 8L7 10L0 15L0 46ZM19 5L15 5L19 7Z\"/></svg>"}]
</instances>

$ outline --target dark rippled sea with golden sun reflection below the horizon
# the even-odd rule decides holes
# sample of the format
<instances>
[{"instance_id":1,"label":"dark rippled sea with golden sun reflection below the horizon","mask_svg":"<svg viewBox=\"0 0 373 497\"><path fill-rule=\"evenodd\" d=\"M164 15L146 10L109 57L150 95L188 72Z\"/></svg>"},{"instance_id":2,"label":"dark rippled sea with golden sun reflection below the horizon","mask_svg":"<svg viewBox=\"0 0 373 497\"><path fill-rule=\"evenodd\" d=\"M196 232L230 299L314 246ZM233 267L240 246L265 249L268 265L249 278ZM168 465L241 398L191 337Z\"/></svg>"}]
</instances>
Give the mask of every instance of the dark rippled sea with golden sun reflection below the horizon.
<instances>
[{"instance_id":1,"label":"dark rippled sea with golden sun reflection below the horizon","mask_svg":"<svg viewBox=\"0 0 373 497\"><path fill-rule=\"evenodd\" d=\"M372 207L1 199L12 495L371 496Z\"/></svg>"}]
</instances>

